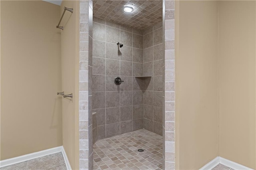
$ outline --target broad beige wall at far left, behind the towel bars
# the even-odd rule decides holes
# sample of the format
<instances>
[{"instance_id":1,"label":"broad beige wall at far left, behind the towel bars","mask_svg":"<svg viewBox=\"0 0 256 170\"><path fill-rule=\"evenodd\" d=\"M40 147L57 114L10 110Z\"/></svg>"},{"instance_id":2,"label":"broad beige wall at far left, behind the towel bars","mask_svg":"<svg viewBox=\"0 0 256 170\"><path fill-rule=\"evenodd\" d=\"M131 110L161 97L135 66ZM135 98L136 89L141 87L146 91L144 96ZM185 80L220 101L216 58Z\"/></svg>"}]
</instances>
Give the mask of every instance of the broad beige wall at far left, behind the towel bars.
<instances>
[{"instance_id":1,"label":"broad beige wall at far left, behind the towel bars","mask_svg":"<svg viewBox=\"0 0 256 170\"><path fill-rule=\"evenodd\" d=\"M1 1L1 160L62 145L60 6Z\"/></svg>"}]
</instances>

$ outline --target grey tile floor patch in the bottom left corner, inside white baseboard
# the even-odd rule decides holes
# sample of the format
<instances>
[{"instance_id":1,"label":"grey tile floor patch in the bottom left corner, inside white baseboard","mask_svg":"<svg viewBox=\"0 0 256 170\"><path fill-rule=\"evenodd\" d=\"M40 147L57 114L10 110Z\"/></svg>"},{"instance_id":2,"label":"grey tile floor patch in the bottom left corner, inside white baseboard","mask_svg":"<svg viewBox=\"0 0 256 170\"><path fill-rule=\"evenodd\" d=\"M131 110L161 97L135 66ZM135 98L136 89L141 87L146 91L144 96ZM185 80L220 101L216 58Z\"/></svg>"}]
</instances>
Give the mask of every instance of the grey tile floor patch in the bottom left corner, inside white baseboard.
<instances>
[{"instance_id":1,"label":"grey tile floor patch in the bottom left corner, inside white baseboard","mask_svg":"<svg viewBox=\"0 0 256 170\"><path fill-rule=\"evenodd\" d=\"M18 164L0 168L0 170L66 170L62 153L51 154Z\"/></svg>"}]
</instances>

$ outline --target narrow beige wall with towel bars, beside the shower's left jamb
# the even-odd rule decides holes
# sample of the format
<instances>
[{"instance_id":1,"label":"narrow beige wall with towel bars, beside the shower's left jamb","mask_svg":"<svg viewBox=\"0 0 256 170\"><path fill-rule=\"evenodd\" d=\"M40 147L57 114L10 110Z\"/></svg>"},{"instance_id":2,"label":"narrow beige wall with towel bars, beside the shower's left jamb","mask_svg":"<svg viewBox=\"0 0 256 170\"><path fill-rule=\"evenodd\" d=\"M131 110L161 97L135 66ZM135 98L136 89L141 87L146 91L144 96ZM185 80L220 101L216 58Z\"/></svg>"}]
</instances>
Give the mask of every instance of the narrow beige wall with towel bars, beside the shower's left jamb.
<instances>
[{"instance_id":1,"label":"narrow beige wall with towel bars, beside the shower's left jamb","mask_svg":"<svg viewBox=\"0 0 256 170\"><path fill-rule=\"evenodd\" d=\"M79 169L79 1L62 1L60 14L64 6L73 8L71 14L66 11L61 26L61 65L62 91L73 93L73 99L62 99L63 146L72 169Z\"/></svg>"}]
</instances>

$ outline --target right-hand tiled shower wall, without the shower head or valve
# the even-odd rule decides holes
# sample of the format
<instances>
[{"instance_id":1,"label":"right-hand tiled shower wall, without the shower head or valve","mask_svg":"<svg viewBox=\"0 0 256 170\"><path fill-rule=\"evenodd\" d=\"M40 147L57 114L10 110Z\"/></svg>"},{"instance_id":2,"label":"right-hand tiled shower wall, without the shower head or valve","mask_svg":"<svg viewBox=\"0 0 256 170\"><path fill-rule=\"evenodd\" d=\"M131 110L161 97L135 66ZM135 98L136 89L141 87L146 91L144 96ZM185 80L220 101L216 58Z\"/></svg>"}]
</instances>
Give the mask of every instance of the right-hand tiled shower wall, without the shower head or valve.
<instances>
[{"instance_id":1,"label":"right-hand tiled shower wall, without the shower head or valve","mask_svg":"<svg viewBox=\"0 0 256 170\"><path fill-rule=\"evenodd\" d=\"M162 135L164 47L162 22L143 32L144 128Z\"/></svg>"}]
</instances>

